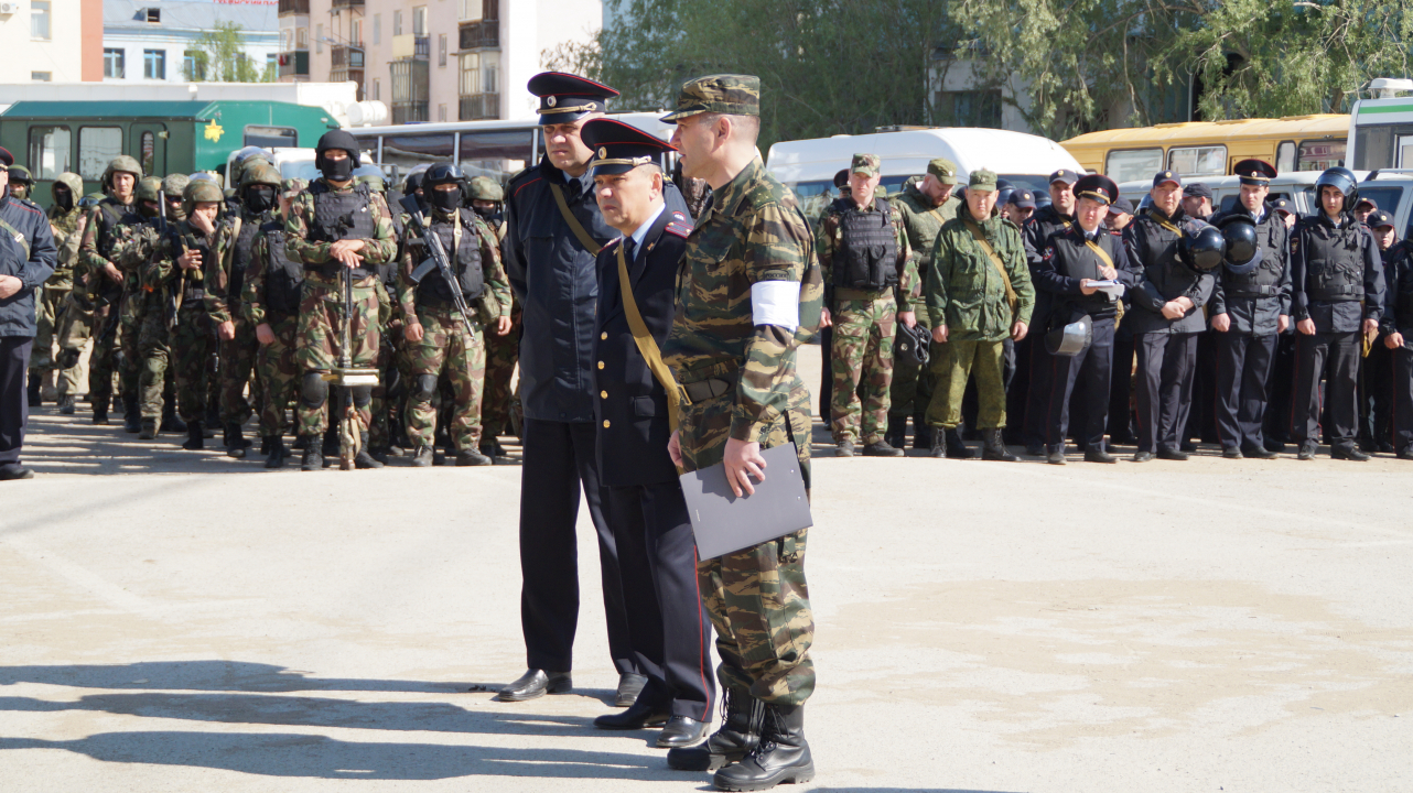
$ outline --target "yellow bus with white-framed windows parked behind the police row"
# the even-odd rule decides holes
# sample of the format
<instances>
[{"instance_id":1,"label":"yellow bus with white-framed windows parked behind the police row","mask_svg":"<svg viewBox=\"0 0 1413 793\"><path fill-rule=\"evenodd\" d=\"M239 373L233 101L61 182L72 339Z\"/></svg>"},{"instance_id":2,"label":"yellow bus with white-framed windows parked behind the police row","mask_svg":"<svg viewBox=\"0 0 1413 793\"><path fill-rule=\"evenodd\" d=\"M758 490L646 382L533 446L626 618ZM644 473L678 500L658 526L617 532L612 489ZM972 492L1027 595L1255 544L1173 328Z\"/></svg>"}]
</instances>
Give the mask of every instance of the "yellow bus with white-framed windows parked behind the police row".
<instances>
[{"instance_id":1,"label":"yellow bus with white-framed windows parked behind the police row","mask_svg":"<svg viewBox=\"0 0 1413 793\"><path fill-rule=\"evenodd\" d=\"M1232 165L1256 157L1276 171L1324 171L1344 165L1349 116L1287 116L1184 121L1126 130L1104 130L1063 141L1087 171L1115 182L1152 179L1159 171L1181 176L1224 176Z\"/></svg>"}]
</instances>

